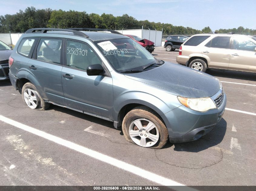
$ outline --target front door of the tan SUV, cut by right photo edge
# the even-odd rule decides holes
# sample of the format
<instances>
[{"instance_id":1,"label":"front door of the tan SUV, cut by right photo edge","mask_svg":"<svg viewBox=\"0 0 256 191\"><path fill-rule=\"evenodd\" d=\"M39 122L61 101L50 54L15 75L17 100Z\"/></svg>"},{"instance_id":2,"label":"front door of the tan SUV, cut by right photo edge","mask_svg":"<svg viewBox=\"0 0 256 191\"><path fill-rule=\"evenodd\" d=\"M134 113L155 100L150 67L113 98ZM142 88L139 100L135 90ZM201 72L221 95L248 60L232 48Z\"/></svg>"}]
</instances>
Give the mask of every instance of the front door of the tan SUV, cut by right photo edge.
<instances>
[{"instance_id":1,"label":"front door of the tan SUV, cut by right photo edge","mask_svg":"<svg viewBox=\"0 0 256 191\"><path fill-rule=\"evenodd\" d=\"M234 36L230 70L256 72L256 42L250 37Z\"/></svg>"}]
</instances>

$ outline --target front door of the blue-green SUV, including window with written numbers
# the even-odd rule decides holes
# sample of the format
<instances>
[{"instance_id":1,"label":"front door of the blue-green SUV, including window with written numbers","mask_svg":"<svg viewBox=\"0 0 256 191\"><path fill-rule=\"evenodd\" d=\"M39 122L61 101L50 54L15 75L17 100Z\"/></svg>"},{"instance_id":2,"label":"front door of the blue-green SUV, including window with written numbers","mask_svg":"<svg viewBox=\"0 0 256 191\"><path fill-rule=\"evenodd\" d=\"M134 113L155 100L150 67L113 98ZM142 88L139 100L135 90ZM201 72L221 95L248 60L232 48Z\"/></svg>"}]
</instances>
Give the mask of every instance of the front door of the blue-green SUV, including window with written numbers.
<instances>
[{"instance_id":1,"label":"front door of the blue-green SUV, including window with written numbers","mask_svg":"<svg viewBox=\"0 0 256 191\"><path fill-rule=\"evenodd\" d=\"M66 40L65 58L62 85L66 105L103 119L112 119L111 76L88 76L86 73L89 65L104 66L98 55L84 42Z\"/></svg>"}]
</instances>

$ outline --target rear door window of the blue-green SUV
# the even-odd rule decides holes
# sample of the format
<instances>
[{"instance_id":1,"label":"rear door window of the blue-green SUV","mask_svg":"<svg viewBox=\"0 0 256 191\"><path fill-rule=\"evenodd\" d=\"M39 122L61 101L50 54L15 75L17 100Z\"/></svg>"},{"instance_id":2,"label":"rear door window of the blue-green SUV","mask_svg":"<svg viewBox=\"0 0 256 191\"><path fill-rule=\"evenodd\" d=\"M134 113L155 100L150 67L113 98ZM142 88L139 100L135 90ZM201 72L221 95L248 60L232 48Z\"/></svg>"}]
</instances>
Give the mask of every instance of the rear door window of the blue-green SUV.
<instances>
[{"instance_id":1,"label":"rear door window of the blue-green SUV","mask_svg":"<svg viewBox=\"0 0 256 191\"><path fill-rule=\"evenodd\" d=\"M36 59L45 62L60 64L61 62L61 39L42 38L37 47Z\"/></svg>"}]
</instances>

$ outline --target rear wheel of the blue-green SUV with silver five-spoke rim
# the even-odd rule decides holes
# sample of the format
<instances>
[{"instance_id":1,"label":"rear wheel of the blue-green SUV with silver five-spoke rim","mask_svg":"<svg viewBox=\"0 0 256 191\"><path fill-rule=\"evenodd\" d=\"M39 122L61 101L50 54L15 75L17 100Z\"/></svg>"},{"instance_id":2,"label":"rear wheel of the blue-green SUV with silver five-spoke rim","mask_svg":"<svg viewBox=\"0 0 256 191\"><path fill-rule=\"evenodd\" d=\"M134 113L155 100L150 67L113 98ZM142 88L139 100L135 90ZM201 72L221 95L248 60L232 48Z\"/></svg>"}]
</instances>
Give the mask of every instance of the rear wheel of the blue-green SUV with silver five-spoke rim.
<instances>
[{"instance_id":1,"label":"rear wheel of the blue-green SUV with silver five-spoke rim","mask_svg":"<svg viewBox=\"0 0 256 191\"><path fill-rule=\"evenodd\" d=\"M22 99L31 109L46 110L50 103L42 100L34 84L28 82L22 87Z\"/></svg>"}]
</instances>

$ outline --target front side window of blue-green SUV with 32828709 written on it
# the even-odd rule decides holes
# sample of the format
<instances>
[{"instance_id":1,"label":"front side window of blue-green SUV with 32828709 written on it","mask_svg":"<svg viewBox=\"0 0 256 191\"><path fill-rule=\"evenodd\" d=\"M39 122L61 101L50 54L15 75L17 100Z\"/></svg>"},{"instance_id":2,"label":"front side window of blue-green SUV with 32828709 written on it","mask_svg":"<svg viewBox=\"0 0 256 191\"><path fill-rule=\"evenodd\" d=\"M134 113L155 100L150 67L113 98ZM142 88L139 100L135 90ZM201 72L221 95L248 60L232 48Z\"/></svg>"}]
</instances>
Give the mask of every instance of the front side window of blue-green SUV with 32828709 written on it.
<instances>
[{"instance_id":1,"label":"front side window of blue-green SUV with 32828709 written on it","mask_svg":"<svg viewBox=\"0 0 256 191\"><path fill-rule=\"evenodd\" d=\"M67 40L66 60L67 66L85 71L89 65L102 64L90 46L72 40Z\"/></svg>"}]
</instances>

